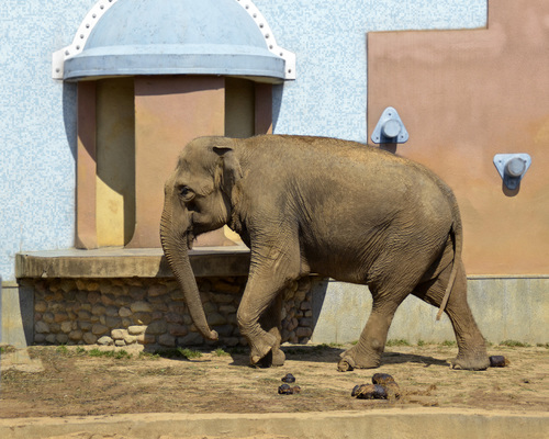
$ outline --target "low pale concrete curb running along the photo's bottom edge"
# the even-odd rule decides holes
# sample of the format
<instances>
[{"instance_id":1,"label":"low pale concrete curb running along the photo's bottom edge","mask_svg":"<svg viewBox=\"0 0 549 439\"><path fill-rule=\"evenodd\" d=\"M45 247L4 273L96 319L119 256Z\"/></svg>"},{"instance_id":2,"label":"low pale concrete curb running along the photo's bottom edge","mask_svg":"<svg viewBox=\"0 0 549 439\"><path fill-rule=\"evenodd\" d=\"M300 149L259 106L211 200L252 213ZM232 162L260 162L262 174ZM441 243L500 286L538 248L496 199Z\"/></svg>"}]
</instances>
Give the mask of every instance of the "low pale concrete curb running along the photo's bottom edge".
<instances>
[{"instance_id":1,"label":"low pale concrete curb running along the photo's bottom edge","mask_svg":"<svg viewBox=\"0 0 549 439\"><path fill-rule=\"evenodd\" d=\"M339 438L546 438L547 413L468 409L380 409L303 414L137 414L0 419L0 437L48 438L87 432L128 439L188 437Z\"/></svg>"}]
</instances>

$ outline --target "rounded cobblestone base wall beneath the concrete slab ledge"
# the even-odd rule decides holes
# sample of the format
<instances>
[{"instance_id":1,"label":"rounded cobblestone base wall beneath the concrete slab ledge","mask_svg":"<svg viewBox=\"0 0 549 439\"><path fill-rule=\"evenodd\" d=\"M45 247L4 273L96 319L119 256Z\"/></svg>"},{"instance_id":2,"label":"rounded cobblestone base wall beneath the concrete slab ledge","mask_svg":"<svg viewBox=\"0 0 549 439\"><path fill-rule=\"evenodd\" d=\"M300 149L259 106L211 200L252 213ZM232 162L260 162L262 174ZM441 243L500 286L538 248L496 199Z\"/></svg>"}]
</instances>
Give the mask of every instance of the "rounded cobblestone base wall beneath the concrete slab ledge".
<instances>
[{"instance_id":1,"label":"rounded cobblestone base wall beneath the concrete slab ledge","mask_svg":"<svg viewBox=\"0 0 549 439\"><path fill-rule=\"evenodd\" d=\"M236 311L246 277L197 279L217 345L244 346ZM34 342L147 345L173 348L204 344L172 279L21 279L34 291ZM311 281L284 292L282 341L306 344L313 331Z\"/></svg>"}]
</instances>

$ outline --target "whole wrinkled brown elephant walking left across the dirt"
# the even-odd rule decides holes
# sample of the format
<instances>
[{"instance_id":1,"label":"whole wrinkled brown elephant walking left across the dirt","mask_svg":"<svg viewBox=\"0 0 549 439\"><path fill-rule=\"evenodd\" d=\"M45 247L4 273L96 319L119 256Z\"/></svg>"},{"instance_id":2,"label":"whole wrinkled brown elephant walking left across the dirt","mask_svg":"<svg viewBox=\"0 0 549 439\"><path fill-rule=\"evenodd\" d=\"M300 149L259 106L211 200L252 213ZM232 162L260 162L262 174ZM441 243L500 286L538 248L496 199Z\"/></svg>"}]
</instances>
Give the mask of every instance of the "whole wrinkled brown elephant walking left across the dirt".
<instances>
[{"instance_id":1,"label":"whole wrinkled brown elephant walking left across the dirt","mask_svg":"<svg viewBox=\"0 0 549 439\"><path fill-rule=\"evenodd\" d=\"M340 370L380 365L394 312L414 294L445 312L460 369L489 365L467 304L461 219L451 190L421 165L378 148L320 137L202 137L165 188L160 236L191 317L210 340L189 263L193 239L227 224L251 250L237 313L250 363L281 365L281 293L309 273L368 284L371 315Z\"/></svg>"}]
</instances>

